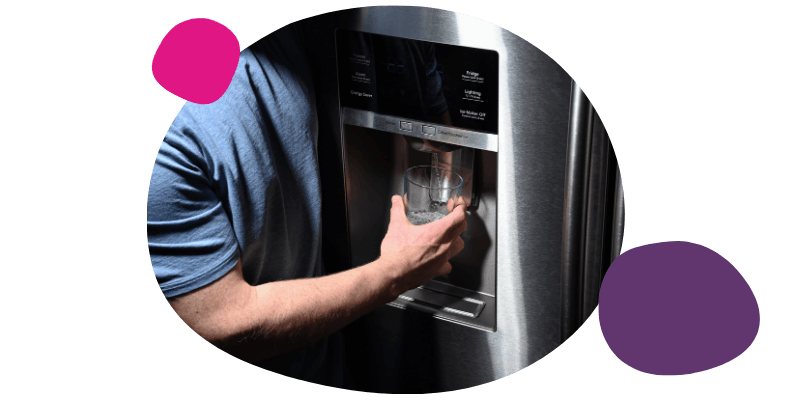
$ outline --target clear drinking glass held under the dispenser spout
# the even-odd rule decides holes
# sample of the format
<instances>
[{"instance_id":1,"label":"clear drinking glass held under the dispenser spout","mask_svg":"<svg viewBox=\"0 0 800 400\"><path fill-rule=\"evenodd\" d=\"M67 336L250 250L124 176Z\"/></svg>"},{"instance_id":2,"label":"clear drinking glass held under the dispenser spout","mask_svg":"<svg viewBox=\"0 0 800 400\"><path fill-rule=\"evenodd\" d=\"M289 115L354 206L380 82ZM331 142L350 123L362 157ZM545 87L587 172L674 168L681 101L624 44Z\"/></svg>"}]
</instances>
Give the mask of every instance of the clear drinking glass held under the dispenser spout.
<instances>
[{"instance_id":1,"label":"clear drinking glass held under the dispenser spout","mask_svg":"<svg viewBox=\"0 0 800 400\"><path fill-rule=\"evenodd\" d=\"M463 184L460 175L444 168L430 165L409 168L403 185L408 220L423 225L444 218L450 213L448 202L456 204Z\"/></svg>"}]
</instances>

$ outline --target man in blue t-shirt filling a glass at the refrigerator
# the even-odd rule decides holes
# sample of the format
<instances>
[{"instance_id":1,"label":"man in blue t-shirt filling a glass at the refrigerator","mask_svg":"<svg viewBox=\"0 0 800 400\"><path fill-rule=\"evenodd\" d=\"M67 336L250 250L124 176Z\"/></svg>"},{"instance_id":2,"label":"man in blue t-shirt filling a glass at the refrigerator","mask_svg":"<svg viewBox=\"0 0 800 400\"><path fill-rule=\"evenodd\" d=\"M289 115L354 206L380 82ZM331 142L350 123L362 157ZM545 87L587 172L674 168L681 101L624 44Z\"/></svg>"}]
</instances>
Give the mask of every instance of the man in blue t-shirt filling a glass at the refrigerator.
<instances>
[{"instance_id":1,"label":"man in blue t-shirt filling a glass at the refrigerator","mask_svg":"<svg viewBox=\"0 0 800 400\"><path fill-rule=\"evenodd\" d=\"M325 276L314 91L295 25L242 51L219 100L181 109L151 176L148 245L162 292L198 335L268 370L343 387L338 331L450 272L465 207L413 226L394 196L380 258Z\"/></svg>"}]
</instances>

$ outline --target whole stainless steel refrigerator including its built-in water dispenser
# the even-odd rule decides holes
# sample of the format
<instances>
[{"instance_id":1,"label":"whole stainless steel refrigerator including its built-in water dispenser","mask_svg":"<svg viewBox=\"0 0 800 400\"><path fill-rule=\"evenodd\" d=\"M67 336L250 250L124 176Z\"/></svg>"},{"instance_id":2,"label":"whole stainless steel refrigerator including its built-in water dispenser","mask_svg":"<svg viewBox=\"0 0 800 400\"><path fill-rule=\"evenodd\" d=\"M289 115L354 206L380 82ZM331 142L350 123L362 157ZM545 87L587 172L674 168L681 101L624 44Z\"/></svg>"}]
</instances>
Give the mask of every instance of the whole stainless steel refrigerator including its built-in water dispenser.
<instances>
[{"instance_id":1,"label":"whole stainless steel refrigerator including its built-in water dispenser","mask_svg":"<svg viewBox=\"0 0 800 400\"><path fill-rule=\"evenodd\" d=\"M595 311L622 239L619 168L580 87L531 43L464 14L367 7L301 25L328 272L377 258L407 168L437 154L469 181L453 272L343 330L357 388L463 389L551 353Z\"/></svg>"}]
</instances>

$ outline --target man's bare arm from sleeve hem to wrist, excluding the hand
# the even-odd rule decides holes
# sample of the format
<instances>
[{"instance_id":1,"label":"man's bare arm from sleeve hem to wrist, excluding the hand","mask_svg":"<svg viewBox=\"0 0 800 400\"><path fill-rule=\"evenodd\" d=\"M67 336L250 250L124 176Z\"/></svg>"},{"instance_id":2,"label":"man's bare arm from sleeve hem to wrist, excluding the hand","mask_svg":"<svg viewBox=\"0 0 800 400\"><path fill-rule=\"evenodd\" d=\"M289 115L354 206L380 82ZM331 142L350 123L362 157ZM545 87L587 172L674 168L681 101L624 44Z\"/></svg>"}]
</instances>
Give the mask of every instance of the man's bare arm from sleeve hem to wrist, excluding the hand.
<instances>
[{"instance_id":1,"label":"man's bare arm from sleeve hem to wrist, excluding the hand","mask_svg":"<svg viewBox=\"0 0 800 400\"><path fill-rule=\"evenodd\" d=\"M219 280L170 304L198 335L256 362L307 346L392 301L380 262L335 275L250 286L240 260Z\"/></svg>"}]
</instances>

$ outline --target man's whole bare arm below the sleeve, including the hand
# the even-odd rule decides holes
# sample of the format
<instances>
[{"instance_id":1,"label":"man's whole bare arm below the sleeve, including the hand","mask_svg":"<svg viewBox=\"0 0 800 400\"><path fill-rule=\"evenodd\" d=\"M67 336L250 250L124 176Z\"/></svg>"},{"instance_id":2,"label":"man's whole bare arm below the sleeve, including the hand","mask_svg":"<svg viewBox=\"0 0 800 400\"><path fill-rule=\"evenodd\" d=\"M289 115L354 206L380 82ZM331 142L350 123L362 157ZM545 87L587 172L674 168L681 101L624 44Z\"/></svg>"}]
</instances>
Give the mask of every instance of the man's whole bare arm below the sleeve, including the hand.
<instances>
[{"instance_id":1,"label":"man's whole bare arm below the sleeve, including the hand","mask_svg":"<svg viewBox=\"0 0 800 400\"><path fill-rule=\"evenodd\" d=\"M449 273L464 248L464 207L413 226L399 196L381 257L334 275L250 286L241 260L217 281L174 299L175 312L198 335L244 361L257 362L307 346L403 292ZM459 205L463 205L459 203Z\"/></svg>"}]
</instances>

